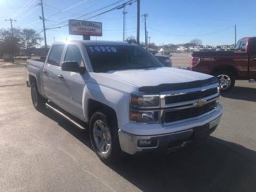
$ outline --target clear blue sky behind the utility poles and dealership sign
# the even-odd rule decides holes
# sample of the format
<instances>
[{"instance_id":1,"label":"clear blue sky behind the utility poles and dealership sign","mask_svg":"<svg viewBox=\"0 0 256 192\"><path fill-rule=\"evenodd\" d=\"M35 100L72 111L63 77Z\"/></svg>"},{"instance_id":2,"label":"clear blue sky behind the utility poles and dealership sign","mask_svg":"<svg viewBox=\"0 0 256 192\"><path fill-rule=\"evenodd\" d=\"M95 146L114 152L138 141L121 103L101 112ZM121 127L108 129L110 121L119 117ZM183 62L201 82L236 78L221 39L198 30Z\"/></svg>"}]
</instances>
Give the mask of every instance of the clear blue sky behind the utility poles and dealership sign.
<instances>
[{"instance_id":1,"label":"clear blue sky behind the utility poles and dealership sign","mask_svg":"<svg viewBox=\"0 0 256 192\"><path fill-rule=\"evenodd\" d=\"M125 0L123 2L126 2ZM46 27L61 21L73 19L117 0L45 0L44 12ZM38 32L43 29L39 20L41 7L39 0L0 0L0 27L10 28L10 21L15 19L14 28L33 28ZM121 4L121 3L119 3ZM112 6L114 7L114 6ZM148 33L151 42L157 45L187 43L193 38L200 38L203 44L220 45L233 44L235 41L234 25L237 25L237 39L244 36L255 36L255 7L256 1L172 1L172 0L141 0L141 14L148 13ZM87 19L101 11L83 16ZM102 22L103 36L97 39L122 41L123 39L123 10L91 18L91 21ZM126 7L127 36L136 37L137 3ZM64 24L67 24L65 22ZM145 41L144 23L141 19L140 41ZM63 24L62 24L63 25ZM60 26L62 26L60 25ZM217 33L218 32L218 33ZM43 33L41 33L43 36ZM82 39L82 36L68 34L68 27L46 30L47 44L68 39ZM95 39L92 37L91 39ZM43 42L42 42L43 45Z\"/></svg>"}]
</instances>

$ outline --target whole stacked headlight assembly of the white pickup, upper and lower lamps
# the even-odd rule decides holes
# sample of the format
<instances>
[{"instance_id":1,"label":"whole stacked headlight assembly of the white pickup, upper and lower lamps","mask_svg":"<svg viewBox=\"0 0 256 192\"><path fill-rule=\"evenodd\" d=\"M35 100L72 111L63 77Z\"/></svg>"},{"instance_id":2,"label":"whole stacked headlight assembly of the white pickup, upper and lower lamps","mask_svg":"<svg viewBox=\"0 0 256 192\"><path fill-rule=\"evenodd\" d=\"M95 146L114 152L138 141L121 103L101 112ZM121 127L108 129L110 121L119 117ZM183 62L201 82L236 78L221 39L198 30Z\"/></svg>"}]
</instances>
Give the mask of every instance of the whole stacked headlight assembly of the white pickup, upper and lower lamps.
<instances>
[{"instance_id":1,"label":"whole stacked headlight assembly of the white pickup, upper and lower lamps","mask_svg":"<svg viewBox=\"0 0 256 192\"><path fill-rule=\"evenodd\" d=\"M130 120L136 123L158 123L159 108L159 95L132 93L130 98Z\"/></svg>"}]
</instances>

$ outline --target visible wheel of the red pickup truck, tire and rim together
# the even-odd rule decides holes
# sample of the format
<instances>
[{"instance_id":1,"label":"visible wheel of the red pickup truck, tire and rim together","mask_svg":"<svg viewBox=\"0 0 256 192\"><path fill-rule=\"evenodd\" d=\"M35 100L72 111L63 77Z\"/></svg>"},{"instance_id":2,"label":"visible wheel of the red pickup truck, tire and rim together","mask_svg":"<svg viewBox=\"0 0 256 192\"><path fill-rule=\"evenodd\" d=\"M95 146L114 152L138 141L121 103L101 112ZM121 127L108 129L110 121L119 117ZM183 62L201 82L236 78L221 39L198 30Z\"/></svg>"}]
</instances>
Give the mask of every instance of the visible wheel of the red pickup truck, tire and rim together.
<instances>
[{"instance_id":1,"label":"visible wheel of the red pickup truck, tire and rim together","mask_svg":"<svg viewBox=\"0 0 256 192\"><path fill-rule=\"evenodd\" d=\"M230 71L218 71L214 76L219 80L221 92L228 92L235 85L236 78Z\"/></svg>"}]
</instances>

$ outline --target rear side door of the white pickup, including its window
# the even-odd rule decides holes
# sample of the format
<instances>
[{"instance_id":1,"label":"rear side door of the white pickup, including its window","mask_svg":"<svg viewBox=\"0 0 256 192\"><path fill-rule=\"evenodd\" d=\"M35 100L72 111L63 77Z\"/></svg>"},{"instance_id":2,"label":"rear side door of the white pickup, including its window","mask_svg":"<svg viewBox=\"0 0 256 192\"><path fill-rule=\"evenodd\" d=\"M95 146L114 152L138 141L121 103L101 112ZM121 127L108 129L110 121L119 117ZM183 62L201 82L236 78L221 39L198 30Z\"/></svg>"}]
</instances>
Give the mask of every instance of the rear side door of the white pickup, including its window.
<instances>
[{"instance_id":1,"label":"rear side door of the white pickup, including its window","mask_svg":"<svg viewBox=\"0 0 256 192\"><path fill-rule=\"evenodd\" d=\"M57 93L60 90L60 78L58 74L61 71L60 61L65 44L54 44L51 47L50 54L43 67L43 89L46 97L55 103L58 103Z\"/></svg>"}]
</instances>

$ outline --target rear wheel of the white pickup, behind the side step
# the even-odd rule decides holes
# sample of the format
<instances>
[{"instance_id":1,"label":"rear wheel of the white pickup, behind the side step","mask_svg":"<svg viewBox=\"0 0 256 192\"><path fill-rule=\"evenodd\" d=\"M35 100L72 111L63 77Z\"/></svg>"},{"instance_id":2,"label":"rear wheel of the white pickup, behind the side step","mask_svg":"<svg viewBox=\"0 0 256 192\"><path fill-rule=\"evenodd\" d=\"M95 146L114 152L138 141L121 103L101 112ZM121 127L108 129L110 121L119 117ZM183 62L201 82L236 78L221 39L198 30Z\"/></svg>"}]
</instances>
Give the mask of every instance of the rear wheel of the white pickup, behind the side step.
<instances>
[{"instance_id":1,"label":"rear wheel of the white pickup, behind the side step","mask_svg":"<svg viewBox=\"0 0 256 192\"><path fill-rule=\"evenodd\" d=\"M38 89L35 83L31 83L30 90L31 90L31 100L32 100L33 106L38 111L43 110L45 107L45 103L47 102L47 99L42 97L42 95L38 92Z\"/></svg>"}]
</instances>

